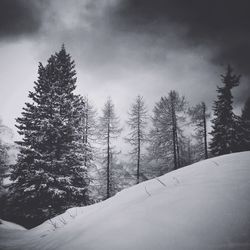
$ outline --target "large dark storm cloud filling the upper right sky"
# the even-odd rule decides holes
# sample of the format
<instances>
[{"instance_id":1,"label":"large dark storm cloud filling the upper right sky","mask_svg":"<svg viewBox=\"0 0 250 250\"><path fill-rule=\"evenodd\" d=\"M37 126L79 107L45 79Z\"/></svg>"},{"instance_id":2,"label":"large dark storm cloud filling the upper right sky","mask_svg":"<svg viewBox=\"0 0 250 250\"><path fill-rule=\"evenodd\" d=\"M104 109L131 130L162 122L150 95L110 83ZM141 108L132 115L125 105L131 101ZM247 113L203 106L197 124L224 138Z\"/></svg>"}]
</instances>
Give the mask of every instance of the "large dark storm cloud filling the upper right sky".
<instances>
[{"instance_id":1,"label":"large dark storm cloud filling the upper right sky","mask_svg":"<svg viewBox=\"0 0 250 250\"><path fill-rule=\"evenodd\" d=\"M125 0L116 11L123 29L159 35L164 26L184 28L188 46L205 45L219 64L250 74L250 1Z\"/></svg>"}]
</instances>

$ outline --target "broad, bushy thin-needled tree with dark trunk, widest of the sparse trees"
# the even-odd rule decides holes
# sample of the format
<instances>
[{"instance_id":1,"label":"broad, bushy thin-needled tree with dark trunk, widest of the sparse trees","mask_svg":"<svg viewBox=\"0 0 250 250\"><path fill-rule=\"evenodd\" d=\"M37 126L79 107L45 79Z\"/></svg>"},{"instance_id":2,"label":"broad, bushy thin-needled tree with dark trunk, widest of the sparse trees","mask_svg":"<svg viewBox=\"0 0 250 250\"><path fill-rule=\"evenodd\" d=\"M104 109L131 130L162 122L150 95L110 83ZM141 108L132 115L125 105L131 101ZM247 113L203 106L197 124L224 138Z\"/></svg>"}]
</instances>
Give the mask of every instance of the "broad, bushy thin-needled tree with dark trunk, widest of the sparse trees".
<instances>
[{"instance_id":1,"label":"broad, bushy thin-needled tree with dark trunk, widest of the sparse trees","mask_svg":"<svg viewBox=\"0 0 250 250\"><path fill-rule=\"evenodd\" d=\"M176 91L170 91L168 97L162 97L154 107L149 151L154 159L161 161L160 174L181 166L179 142L183 135L179 123L184 121L184 108L185 98Z\"/></svg>"}]
</instances>

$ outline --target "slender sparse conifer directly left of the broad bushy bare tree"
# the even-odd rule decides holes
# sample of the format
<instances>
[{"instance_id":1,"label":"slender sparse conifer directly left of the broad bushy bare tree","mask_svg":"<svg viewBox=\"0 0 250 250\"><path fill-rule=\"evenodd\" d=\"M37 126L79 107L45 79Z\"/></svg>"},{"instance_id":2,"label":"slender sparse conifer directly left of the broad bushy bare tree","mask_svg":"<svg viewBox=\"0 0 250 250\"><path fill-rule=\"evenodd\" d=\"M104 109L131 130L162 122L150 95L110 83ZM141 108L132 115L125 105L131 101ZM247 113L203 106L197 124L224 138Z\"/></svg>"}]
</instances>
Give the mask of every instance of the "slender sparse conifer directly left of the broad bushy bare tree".
<instances>
[{"instance_id":1,"label":"slender sparse conifer directly left of the broad bushy bare tree","mask_svg":"<svg viewBox=\"0 0 250 250\"><path fill-rule=\"evenodd\" d=\"M142 96L137 96L135 103L132 104L129 110L129 119L127 124L130 128L130 133L126 141L133 147L130 155L136 160L136 179L140 182L140 165L142 158L142 145L147 140L146 125L147 125L147 110Z\"/></svg>"}]
</instances>

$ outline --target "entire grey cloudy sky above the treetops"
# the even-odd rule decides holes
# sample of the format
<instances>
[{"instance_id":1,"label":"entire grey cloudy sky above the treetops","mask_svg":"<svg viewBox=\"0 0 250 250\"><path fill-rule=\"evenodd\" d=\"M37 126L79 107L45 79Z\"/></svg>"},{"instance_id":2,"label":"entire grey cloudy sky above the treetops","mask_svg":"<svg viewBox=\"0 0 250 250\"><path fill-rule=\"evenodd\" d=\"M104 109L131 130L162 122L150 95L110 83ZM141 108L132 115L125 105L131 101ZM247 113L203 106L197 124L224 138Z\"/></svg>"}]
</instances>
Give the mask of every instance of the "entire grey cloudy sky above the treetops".
<instances>
[{"instance_id":1,"label":"entire grey cloudy sky above the treetops","mask_svg":"<svg viewBox=\"0 0 250 250\"><path fill-rule=\"evenodd\" d=\"M38 62L64 43L78 92L101 108L111 96L121 120L137 94L148 109L171 89L191 104L216 98L228 63L250 95L248 0L0 0L0 117L15 129Z\"/></svg>"}]
</instances>

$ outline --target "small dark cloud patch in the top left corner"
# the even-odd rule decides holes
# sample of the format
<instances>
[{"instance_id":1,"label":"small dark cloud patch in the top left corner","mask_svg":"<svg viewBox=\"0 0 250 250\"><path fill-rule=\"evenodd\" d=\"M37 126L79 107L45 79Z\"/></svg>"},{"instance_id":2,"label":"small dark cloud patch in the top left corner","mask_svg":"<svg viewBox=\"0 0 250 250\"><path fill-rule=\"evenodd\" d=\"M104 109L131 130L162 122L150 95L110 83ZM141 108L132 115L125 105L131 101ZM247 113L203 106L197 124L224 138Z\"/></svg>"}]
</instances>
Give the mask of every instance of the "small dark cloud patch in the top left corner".
<instances>
[{"instance_id":1,"label":"small dark cloud patch in the top left corner","mask_svg":"<svg viewBox=\"0 0 250 250\"><path fill-rule=\"evenodd\" d=\"M38 32L47 6L46 0L1 0L0 39Z\"/></svg>"}]
</instances>

